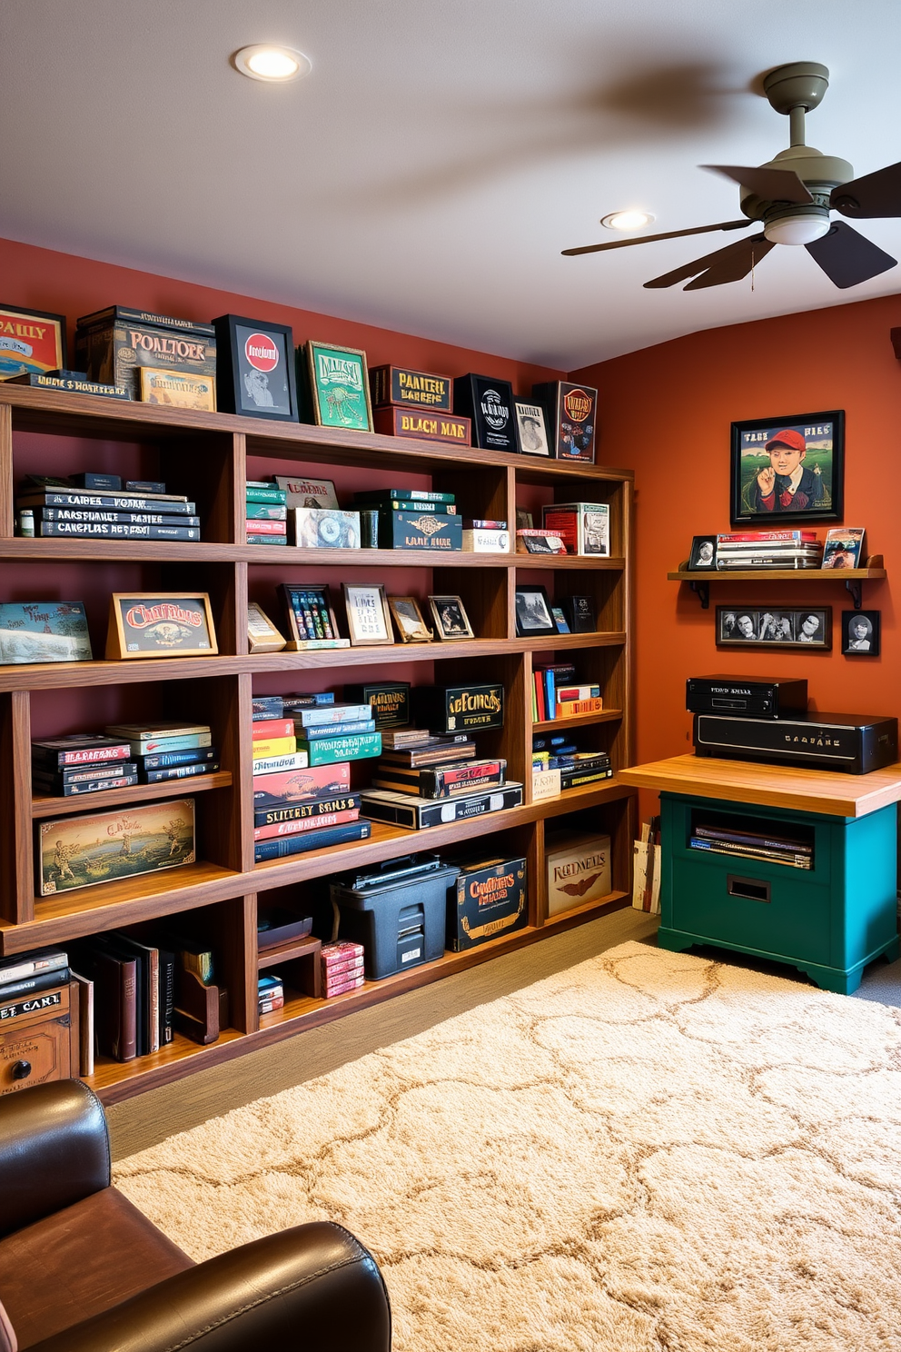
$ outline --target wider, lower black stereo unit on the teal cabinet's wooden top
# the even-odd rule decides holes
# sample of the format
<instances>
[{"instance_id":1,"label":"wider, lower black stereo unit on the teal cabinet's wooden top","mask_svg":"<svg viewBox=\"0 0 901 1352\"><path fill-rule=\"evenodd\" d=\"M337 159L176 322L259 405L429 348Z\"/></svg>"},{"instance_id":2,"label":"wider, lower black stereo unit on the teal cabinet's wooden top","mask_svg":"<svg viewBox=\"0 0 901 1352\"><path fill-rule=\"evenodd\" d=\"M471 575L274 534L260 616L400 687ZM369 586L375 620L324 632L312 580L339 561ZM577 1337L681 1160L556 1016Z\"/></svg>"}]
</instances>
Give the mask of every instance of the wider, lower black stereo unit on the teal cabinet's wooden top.
<instances>
[{"instance_id":1,"label":"wider, lower black stereo unit on the teal cabinet's wooden top","mask_svg":"<svg viewBox=\"0 0 901 1352\"><path fill-rule=\"evenodd\" d=\"M866 714L779 719L696 714L694 750L697 756L867 775L897 761L898 721Z\"/></svg>"}]
</instances>

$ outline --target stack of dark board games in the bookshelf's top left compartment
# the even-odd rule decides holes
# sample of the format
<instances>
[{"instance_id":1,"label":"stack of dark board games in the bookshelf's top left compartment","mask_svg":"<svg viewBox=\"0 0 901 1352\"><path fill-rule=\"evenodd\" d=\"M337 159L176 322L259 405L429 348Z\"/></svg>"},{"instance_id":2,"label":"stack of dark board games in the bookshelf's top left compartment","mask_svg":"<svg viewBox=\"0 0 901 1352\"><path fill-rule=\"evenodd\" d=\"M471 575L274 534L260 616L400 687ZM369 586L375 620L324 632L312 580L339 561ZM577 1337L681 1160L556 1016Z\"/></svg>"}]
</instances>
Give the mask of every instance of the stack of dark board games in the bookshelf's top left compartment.
<instances>
[{"instance_id":1,"label":"stack of dark board games in the bookshelf's top left compartment","mask_svg":"<svg viewBox=\"0 0 901 1352\"><path fill-rule=\"evenodd\" d=\"M119 475L28 475L16 498L22 534L107 539L200 539L197 504L157 481Z\"/></svg>"}]
</instances>

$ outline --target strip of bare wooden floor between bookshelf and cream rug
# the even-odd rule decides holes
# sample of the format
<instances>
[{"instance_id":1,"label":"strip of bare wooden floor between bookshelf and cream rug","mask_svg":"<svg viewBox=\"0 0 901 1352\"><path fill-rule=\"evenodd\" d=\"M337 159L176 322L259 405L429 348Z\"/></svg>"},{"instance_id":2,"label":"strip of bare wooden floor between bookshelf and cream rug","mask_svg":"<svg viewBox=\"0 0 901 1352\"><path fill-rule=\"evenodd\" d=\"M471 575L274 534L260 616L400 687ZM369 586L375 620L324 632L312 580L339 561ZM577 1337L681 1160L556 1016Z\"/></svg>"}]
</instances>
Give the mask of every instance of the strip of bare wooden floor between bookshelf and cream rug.
<instances>
[{"instance_id":1,"label":"strip of bare wooden floor between bookshelf and cream rug","mask_svg":"<svg viewBox=\"0 0 901 1352\"><path fill-rule=\"evenodd\" d=\"M434 986L408 991L335 1023L115 1103L107 1109L112 1156L123 1159L232 1107L303 1084L627 940L651 938L657 925L657 917L625 907Z\"/></svg>"}]
</instances>

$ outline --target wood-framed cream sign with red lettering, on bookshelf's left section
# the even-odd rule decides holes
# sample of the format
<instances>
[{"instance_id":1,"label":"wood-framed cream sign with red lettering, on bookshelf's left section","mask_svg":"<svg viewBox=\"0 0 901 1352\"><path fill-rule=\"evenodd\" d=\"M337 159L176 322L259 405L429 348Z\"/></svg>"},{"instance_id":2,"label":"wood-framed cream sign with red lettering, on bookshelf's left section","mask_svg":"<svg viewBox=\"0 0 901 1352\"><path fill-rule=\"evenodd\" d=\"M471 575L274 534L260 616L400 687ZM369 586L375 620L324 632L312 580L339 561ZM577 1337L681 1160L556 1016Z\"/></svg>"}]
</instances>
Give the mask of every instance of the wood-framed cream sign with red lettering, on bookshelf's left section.
<instances>
[{"instance_id":1,"label":"wood-framed cream sign with red lettering, on bookshelf's left section","mask_svg":"<svg viewBox=\"0 0 901 1352\"><path fill-rule=\"evenodd\" d=\"M113 592L107 660L213 657L219 652L208 592Z\"/></svg>"}]
</instances>

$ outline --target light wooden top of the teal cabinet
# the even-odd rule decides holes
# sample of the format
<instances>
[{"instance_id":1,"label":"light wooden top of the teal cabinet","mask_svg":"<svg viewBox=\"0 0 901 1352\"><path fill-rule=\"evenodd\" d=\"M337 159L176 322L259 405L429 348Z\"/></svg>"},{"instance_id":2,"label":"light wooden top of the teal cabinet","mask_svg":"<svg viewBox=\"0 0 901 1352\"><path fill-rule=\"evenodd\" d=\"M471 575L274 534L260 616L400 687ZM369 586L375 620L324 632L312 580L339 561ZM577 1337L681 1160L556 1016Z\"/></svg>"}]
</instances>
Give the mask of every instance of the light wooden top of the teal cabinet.
<instances>
[{"instance_id":1,"label":"light wooden top of the teal cabinet","mask_svg":"<svg viewBox=\"0 0 901 1352\"><path fill-rule=\"evenodd\" d=\"M869 775L843 775L794 765L673 756L648 761L647 765L632 765L620 771L619 777L635 788L824 813L828 817L866 817L889 803L901 802L901 764Z\"/></svg>"}]
</instances>

